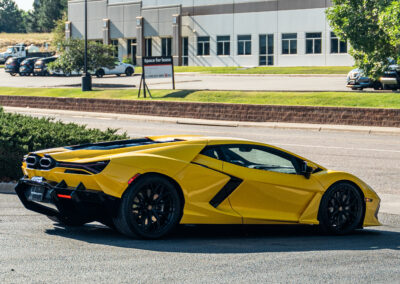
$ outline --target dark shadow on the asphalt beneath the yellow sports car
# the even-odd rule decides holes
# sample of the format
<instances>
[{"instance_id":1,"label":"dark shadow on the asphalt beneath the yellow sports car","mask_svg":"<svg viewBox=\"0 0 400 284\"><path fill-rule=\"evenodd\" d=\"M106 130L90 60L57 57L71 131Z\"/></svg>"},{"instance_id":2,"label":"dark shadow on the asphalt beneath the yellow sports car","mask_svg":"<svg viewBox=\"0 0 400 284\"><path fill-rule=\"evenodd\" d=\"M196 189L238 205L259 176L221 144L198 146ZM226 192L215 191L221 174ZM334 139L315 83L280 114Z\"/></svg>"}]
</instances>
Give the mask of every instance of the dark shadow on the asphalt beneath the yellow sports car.
<instances>
[{"instance_id":1,"label":"dark shadow on the asphalt beneath the yellow sports car","mask_svg":"<svg viewBox=\"0 0 400 284\"><path fill-rule=\"evenodd\" d=\"M346 236L327 236L317 226L179 226L162 240L126 238L102 225L55 226L47 234L87 243L175 253L261 253L337 250L400 250L400 233L390 228L365 229Z\"/></svg>"}]
</instances>

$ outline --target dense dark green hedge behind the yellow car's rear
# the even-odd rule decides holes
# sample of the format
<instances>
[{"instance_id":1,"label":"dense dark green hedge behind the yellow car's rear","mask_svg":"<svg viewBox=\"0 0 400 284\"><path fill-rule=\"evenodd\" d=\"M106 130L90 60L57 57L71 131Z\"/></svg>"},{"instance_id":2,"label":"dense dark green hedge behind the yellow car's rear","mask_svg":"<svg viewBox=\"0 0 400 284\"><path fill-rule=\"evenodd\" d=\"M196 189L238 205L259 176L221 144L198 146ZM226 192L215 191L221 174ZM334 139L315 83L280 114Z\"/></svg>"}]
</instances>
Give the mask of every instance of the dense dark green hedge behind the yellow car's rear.
<instances>
[{"instance_id":1,"label":"dense dark green hedge behind the yellow car's rear","mask_svg":"<svg viewBox=\"0 0 400 284\"><path fill-rule=\"evenodd\" d=\"M88 129L75 123L4 113L0 107L0 181L21 178L21 161L28 152L100 141L126 139L116 129Z\"/></svg>"}]
</instances>

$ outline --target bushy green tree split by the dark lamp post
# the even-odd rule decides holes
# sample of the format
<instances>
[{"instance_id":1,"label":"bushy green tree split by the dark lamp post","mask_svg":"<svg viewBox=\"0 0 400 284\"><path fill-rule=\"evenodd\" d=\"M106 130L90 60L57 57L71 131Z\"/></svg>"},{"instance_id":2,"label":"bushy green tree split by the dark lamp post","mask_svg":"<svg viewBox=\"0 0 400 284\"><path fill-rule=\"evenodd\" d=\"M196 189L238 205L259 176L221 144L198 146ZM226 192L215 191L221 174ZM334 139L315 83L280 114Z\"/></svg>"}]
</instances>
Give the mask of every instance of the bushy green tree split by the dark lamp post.
<instances>
[{"instance_id":1,"label":"bushy green tree split by the dark lamp post","mask_svg":"<svg viewBox=\"0 0 400 284\"><path fill-rule=\"evenodd\" d=\"M82 72L84 68L84 40L69 39L62 43L63 53L60 57L49 64L50 69L62 70L64 74L71 74L73 71ZM92 72L100 67L115 67L115 59L112 56L113 47L98 42L88 43L88 70Z\"/></svg>"}]
</instances>

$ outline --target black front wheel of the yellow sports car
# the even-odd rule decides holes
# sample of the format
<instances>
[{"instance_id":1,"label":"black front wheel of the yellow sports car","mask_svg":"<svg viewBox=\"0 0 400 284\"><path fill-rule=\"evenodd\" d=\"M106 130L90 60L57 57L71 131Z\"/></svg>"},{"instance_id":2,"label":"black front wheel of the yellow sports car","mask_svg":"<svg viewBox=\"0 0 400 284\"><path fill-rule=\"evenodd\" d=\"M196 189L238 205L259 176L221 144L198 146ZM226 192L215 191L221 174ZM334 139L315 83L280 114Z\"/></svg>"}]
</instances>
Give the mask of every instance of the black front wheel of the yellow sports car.
<instances>
[{"instance_id":1,"label":"black front wheel of the yellow sports car","mask_svg":"<svg viewBox=\"0 0 400 284\"><path fill-rule=\"evenodd\" d=\"M336 183L322 197L319 221L324 233L349 234L359 227L363 216L362 194L351 183Z\"/></svg>"}]
</instances>

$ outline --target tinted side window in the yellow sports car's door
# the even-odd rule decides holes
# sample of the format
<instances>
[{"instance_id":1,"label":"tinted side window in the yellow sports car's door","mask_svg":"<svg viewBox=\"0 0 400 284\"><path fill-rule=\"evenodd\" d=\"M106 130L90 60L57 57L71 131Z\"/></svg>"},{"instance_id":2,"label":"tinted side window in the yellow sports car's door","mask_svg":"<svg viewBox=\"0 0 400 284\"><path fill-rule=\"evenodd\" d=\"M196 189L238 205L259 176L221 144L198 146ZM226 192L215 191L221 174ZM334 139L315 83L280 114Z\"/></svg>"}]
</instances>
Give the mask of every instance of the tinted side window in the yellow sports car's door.
<instances>
[{"instance_id":1,"label":"tinted side window in the yellow sports car's door","mask_svg":"<svg viewBox=\"0 0 400 284\"><path fill-rule=\"evenodd\" d=\"M275 149L256 145L226 145L220 149L223 160L228 163L250 169L297 174L295 159Z\"/></svg>"}]
</instances>

